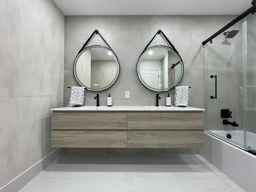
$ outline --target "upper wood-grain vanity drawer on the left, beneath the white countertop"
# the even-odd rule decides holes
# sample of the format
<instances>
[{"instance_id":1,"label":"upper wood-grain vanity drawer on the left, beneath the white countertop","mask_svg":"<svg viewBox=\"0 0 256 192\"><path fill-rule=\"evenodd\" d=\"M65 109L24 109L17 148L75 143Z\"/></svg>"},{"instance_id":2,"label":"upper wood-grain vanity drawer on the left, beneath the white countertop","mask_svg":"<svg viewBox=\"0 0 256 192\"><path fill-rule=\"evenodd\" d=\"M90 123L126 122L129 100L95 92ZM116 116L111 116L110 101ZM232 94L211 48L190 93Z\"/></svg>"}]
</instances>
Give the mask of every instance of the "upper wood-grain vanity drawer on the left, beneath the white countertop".
<instances>
[{"instance_id":1,"label":"upper wood-grain vanity drawer on the left, beneath the white countertop","mask_svg":"<svg viewBox=\"0 0 256 192\"><path fill-rule=\"evenodd\" d=\"M126 130L126 112L53 112L52 129Z\"/></svg>"}]
</instances>

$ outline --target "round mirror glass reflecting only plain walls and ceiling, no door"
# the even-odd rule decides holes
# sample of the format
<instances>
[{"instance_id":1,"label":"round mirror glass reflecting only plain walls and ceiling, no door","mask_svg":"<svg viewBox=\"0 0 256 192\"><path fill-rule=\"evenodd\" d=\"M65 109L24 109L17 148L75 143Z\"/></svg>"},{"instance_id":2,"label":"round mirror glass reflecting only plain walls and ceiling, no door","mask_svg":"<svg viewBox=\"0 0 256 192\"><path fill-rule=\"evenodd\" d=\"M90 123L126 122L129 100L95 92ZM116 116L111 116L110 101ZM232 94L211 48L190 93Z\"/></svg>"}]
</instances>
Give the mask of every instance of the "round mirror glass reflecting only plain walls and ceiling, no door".
<instances>
[{"instance_id":1,"label":"round mirror glass reflecting only plain walls and ceiling, no door","mask_svg":"<svg viewBox=\"0 0 256 192\"><path fill-rule=\"evenodd\" d=\"M90 91L102 91L114 84L119 75L119 62L112 50L104 46L90 46L76 56L74 76Z\"/></svg>"}]
</instances>

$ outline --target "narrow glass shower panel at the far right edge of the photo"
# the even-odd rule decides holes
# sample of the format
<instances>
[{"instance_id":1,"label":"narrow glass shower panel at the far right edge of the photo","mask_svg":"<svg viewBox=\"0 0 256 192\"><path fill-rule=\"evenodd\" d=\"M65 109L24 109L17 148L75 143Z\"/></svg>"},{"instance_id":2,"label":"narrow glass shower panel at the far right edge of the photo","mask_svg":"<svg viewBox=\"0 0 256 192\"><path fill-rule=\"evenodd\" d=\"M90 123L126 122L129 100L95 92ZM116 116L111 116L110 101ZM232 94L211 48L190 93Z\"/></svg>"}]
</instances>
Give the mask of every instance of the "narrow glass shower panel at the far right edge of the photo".
<instances>
[{"instance_id":1,"label":"narrow glass shower panel at the far right edge of the photo","mask_svg":"<svg viewBox=\"0 0 256 192\"><path fill-rule=\"evenodd\" d=\"M245 17L246 61L245 61L245 148L256 152L256 16Z\"/></svg>"}]
</instances>

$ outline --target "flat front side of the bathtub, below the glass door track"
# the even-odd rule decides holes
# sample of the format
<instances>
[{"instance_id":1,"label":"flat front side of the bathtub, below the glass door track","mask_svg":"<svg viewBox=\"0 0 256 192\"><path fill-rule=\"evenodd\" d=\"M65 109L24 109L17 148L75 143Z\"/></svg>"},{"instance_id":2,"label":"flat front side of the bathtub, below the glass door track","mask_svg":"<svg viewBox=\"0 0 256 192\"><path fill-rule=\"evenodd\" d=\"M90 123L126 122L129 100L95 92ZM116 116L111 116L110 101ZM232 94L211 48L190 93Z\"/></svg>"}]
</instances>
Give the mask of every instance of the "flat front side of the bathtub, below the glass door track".
<instances>
[{"instance_id":1,"label":"flat front side of the bathtub, below the glass door track","mask_svg":"<svg viewBox=\"0 0 256 192\"><path fill-rule=\"evenodd\" d=\"M242 187L246 192L256 189L256 156L204 132L200 155Z\"/></svg>"}]
</instances>

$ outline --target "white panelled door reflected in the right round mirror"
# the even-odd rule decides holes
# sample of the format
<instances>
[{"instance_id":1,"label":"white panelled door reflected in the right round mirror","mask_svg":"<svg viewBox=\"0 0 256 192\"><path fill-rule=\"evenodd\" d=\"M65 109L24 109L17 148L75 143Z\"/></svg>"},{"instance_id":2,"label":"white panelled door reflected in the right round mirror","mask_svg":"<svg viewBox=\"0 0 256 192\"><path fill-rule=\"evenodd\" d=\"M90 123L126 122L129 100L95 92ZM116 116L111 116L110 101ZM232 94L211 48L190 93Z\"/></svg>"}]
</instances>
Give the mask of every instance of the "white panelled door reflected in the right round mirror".
<instances>
[{"instance_id":1,"label":"white panelled door reflected in the right round mirror","mask_svg":"<svg viewBox=\"0 0 256 192\"><path fill-rule=\"evenodd\" d=\"M140 75L148 86L156 89L161 88L160 69L140 70Z\"/></svg>"}]
</instances>

